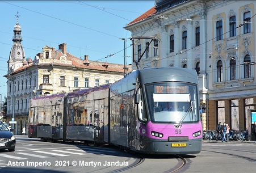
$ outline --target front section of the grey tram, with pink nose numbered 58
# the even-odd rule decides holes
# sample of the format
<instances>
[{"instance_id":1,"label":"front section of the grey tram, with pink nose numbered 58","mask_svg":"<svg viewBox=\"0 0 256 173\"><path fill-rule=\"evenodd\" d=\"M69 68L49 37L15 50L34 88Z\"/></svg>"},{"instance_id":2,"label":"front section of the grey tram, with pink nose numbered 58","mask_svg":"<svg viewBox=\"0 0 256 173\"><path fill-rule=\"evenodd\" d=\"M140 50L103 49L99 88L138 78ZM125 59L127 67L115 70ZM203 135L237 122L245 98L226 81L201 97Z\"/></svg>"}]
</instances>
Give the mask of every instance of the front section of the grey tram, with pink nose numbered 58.
<instances>
[{"instance_id":1,"label":"front section of the grey tram, with pink nose numbered 58","mask_svg":"<svg viewBox=\"0 0 256 173\"><path fill-rule=\"evenodd\" d=\"M110 131L111 144L142 153L199 153L202 123L196 71L140 69L111 85Z\"/></svg>"}]
</instances>

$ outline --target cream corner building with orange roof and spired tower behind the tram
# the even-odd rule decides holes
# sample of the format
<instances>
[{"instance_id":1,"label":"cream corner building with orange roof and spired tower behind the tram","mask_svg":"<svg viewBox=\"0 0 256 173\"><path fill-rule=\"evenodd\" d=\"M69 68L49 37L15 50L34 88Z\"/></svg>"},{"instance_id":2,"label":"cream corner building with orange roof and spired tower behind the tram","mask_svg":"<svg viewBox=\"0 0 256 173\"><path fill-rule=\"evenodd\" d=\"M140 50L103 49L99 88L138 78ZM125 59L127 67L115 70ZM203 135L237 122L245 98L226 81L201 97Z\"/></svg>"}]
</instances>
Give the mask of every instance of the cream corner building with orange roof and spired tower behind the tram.
<instances>
[{"instance_id":1,"label":"cream corner building with orange roof and spired tower behind the tram","mask_svg":"<svg viewBox=\"0 0 256 173\"><path fill-rule=\"evenodd\" d=\"M114 83L124 76L124 65L90 61L87 55L81 60L66 51L66 43L58 45L58 49L43 47L34 60L26 58L21 32L17 16L8 73L4 76L8 86L6 122L14 117L15 134L27 128L31 98ZM131 66L126 66L125 72L129 69Z\"/></svg>"}]
</instances>

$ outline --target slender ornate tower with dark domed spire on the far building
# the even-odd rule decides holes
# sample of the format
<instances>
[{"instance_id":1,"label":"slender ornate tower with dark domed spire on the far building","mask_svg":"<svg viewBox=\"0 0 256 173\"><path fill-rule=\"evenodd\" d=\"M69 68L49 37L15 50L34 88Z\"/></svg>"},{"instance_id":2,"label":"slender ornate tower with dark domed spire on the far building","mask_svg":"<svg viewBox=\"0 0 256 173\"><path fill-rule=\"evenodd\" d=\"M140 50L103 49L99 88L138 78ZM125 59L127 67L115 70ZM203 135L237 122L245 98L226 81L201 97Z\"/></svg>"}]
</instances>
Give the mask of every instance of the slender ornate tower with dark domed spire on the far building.
<instances>
[{"instance_id":1,"label":"slender ornate tower with dark domed spire on the far building","mask_svg":"<svg viewBox=\"0 0 256 173\"><path fill-rule=\"evenodd\" d=\"M19 16L19 12L17 12L17 23L14 26L14 36L12 38L14 44L12 45L8 61L8 74L12 73L12 71L16 69L19 69L19 67L22 67L23 61L26 58L24 49L22 47L22 27L19 25Z\"/></svg>"}]
</instances>

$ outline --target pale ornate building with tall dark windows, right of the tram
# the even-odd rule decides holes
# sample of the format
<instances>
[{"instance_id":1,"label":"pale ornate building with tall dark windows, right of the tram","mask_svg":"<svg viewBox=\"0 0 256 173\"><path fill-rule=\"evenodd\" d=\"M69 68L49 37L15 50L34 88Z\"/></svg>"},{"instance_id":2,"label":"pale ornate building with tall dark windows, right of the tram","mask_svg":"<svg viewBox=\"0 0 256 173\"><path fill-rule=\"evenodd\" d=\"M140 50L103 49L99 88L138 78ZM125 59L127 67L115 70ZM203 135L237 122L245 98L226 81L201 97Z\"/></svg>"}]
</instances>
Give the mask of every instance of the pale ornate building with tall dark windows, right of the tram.
<instances>
[{"instance_id":1,"label":"pale ornate building with tall dark windows, right of the tram","mask_svg":"<svg viewBox=\"0 0 256 173\"><path fill-rule=\"evenodd\" d=\"M124 28L136 40L134 54L145 54L140 67L184 67L198 73L203 129L219 121L232 129L249 129L255 109L254 1L156 1L152 9ZM139 57L137 57L139 59ZM136 66L133 66L136 69Z\"/></svg>"}]
</instances>

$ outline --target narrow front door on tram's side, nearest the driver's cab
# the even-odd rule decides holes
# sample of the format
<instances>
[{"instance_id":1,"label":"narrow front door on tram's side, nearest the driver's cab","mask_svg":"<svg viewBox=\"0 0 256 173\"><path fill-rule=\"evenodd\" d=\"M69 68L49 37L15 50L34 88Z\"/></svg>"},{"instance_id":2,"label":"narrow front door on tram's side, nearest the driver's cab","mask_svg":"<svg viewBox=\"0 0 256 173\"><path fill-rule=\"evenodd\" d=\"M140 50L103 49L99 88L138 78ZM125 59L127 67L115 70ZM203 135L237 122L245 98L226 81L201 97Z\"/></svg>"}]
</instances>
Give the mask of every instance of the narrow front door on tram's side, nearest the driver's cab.
<instances>
[{"instance_id":1,"label":"narrow front door on tram's side, nearest the driver's cab","mask_svg":"<svg viewBox=\"0 0 256 173\"><path fill-rule=\"evenodd\" d=\"M128 92L128 145L135 147L135 103L134 91Z\"/></svg>"}]
</instances>

